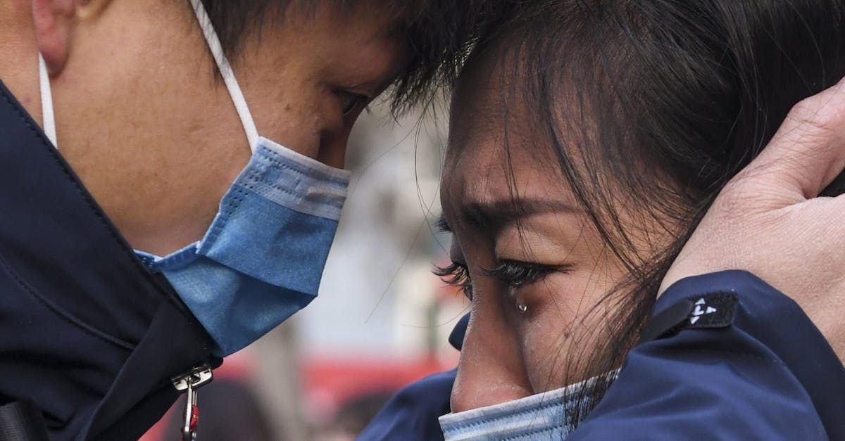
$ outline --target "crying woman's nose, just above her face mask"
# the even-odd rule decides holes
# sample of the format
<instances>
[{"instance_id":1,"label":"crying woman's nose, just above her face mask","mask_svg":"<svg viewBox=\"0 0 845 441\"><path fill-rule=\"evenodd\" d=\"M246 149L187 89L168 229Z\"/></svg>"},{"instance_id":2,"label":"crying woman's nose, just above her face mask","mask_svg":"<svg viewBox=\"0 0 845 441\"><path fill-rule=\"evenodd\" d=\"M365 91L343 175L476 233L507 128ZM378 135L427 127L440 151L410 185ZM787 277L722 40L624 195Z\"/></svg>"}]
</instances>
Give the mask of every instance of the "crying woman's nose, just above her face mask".
<instances>
[{"instance_id":1,"label":"crying woman's nose, just above her face mask","mask_svg":"<svg viewBox=\"0 0 845 441\"><path fill-rule=\"evenodd\" d=\"M452 387L452 412L493 406L532 394L512 329L503 318L474 310Z\"/></svg>"}]
</instances>

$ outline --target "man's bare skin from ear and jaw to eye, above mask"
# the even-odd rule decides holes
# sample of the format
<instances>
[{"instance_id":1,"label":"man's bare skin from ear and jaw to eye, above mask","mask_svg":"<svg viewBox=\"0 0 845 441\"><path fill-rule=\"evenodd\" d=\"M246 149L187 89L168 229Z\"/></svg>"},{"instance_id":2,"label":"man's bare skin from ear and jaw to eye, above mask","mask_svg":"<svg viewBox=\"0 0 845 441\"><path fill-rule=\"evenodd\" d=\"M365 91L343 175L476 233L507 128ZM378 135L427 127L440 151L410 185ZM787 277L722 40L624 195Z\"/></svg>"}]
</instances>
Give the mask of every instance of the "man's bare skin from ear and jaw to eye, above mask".
<instances>
[{"instance_id":1,"label":"man's bare skin from ear and jaw to eye, above mask","mask_svg":"<svg viewBox=\"0 0 845 441\"><path fill-rule=\"evenodd\" d=\"M390 21L321 3L248 35L232 63L259 134L342 167L363 110L342 114L346 91L379 95L405 63ZM0 79L36 121L39 50L59 151L128 242L165 255L202 238L250 150L188 1L0 5Z\"/></svg>"}]
</instances>

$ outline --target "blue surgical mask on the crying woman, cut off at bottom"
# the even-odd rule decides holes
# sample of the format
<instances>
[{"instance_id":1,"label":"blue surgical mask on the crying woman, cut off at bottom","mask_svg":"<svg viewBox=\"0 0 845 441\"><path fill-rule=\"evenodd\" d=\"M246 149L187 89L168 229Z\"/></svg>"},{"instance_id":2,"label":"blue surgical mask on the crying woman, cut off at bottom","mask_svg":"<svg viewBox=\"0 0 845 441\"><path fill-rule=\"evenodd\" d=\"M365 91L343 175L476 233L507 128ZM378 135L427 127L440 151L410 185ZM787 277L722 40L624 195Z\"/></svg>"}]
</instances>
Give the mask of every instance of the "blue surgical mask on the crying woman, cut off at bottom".
<instances>
[{"instance_id":1,"label":"blue surgical mask on the crying woman, cut off at bottom","mask_svg":"<svg viewBox=\"0 0 845 441\"><path fill-rule=\"evenodd\" d=\"M612 379L616 372L607 375ZM589 404L589 399L585 400L581 393L599 378L607 376L495 406L440 416L440 428L446 441L564 439L575 429L572 421L575 411L579 406L586 409Z\"/></svg>"}]
</instances>

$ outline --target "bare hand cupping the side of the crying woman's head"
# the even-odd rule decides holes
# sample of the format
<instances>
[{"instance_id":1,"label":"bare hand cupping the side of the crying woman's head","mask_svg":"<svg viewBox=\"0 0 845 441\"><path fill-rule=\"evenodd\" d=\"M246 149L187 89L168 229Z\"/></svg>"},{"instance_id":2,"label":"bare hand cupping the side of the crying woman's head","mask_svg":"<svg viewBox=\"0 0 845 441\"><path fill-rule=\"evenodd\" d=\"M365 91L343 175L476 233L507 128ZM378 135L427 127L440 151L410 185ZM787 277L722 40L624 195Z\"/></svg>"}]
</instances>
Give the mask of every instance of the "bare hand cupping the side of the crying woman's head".
<instances>
[{"instance_id":1,"label":"bare hand cupping the side of the crying woman's head","mask_svg":"<svg viewBox=\"0 0 845 441\"><path fill-rule=\"evenodd\" d=\"M722 189L660 292L690 275L748 270L798 302L845 360L845 79L793 107L771 143Z\"/></svg>"}]
</instances>

